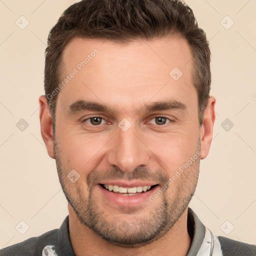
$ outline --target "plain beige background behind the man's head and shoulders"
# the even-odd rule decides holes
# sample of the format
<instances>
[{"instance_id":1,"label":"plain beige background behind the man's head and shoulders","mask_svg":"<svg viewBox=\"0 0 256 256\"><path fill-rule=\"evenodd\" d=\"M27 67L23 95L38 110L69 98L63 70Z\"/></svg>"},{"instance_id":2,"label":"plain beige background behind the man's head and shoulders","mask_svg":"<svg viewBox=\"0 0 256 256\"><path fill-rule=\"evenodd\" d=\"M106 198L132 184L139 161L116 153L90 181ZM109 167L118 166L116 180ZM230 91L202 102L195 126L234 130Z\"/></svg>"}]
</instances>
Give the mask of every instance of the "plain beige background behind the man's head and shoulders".
<instances>
[{"instance_id":1,"label":"plain beige background behind the man's head and shoulders","mask_svg":"<svg viewBox=\"0 0 256 256\"><path fill-rule=\"evenodd\" d=\"M49 29L74 2L0 0L0 247L58 228L68 214L40 135L38 97ZM256 243L256 0L186 2L210 40L217 100L211 150L190 207L216 235ZM15 24L21 15L29 21L24 29ZM226 15L234 21L229 29ZM234 124L228 131L226 118ZM29 226L24 234L15 229L21 220Z\"/></svg>"}]
</instances>

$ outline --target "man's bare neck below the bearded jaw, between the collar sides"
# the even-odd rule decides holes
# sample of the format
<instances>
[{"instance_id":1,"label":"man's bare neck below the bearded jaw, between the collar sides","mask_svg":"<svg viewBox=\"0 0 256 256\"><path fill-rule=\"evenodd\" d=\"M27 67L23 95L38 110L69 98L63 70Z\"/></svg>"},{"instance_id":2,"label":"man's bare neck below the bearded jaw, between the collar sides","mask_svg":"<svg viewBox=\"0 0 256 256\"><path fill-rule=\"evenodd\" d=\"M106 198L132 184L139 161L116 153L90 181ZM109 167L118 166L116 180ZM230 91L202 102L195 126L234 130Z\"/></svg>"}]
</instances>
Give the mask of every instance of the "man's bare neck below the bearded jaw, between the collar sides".
<instances>
[{"instance_id":1,"label":"man's bare neck below the bearded jaw, between the collar sides","mask_svg":"<svg viewBox=\"0 0 256 256\"><path fill-rule=\"evenodd\" d=\"M76 256L185 256L191 243L187 232L187 208L163 237L150 244L136 248L119 247L99 237L79 221L69 203L68 212L70 240Z\"/></svg>"}]
</instances>

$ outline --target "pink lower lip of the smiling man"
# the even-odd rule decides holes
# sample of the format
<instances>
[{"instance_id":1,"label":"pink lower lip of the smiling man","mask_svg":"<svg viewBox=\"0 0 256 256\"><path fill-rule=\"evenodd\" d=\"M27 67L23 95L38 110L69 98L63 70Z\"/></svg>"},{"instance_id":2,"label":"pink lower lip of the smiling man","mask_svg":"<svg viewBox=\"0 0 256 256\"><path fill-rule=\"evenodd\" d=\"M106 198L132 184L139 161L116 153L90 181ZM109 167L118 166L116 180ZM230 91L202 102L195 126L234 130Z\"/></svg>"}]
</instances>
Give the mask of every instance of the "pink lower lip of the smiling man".
<instances>
[{"instance_id":1,"label":"pink lower lip of the smiling man","mask_svg":"<svg viewBox=\"0 0 256 256\"><path fill-rule=\"evenodd\" d=\"M149 196L154 194L159 187L159 185L157 185L146 192L135 195L121 195L110 192L99 184L97 184L96 186L99 188L103 196L105 196L108 201L119 206L137 206L145 201L149 201Z\"/></svg>"}]
</instances>

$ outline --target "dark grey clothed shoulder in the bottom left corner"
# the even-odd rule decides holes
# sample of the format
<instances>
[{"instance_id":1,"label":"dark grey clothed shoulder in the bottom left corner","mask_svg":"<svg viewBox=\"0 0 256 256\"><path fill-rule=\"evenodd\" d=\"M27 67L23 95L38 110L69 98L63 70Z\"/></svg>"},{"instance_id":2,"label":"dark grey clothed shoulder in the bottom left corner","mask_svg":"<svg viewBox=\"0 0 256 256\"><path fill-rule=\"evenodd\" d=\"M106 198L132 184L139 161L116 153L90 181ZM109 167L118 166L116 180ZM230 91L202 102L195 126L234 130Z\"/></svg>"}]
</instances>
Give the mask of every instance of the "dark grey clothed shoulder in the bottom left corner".
<instances>
[{"instance_id":1,"label":"dark grey clothed shoulder in the bottom left corner","mask_svg":"<svg viewBox=\"0 0 256 256\"><path fill-rule=\"evenodd\" d=\"M0 256L41 256L46 245L57 240L58 229L50 230L40 236L28 238L0 250Z\"/></svg>"}]
</instances>

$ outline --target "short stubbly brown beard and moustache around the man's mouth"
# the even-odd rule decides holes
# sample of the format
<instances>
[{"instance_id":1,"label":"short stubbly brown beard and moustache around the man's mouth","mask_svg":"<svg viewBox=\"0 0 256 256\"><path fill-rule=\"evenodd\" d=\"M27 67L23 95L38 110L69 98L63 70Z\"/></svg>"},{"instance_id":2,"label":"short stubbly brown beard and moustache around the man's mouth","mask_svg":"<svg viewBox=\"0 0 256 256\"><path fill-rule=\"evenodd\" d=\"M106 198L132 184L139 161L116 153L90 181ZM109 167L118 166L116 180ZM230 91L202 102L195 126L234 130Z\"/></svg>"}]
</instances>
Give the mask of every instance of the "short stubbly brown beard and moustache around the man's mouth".
<instances>
[{"instance_id":1,"label":"short stubbly brown beard and moustache around the man's mouth","mask_svg":"<svg viewBox=\"0 0 256 256\"><path fill-rule=\"evenodd\" d=\"M170 185L157 200L147 202L150 203L150 206L153 203L154 207L150 207L150 212L146 217L139 215L140 210L143 209L134 208L132 210L120 207L120 212L134 214L134 217L128 221L124 214L122 218L116 218L101 205L93 193L94 181L100 178L151 179L158 180L161 187L169 179L164 171L159 169L150 172L146 167L137 167L129 173L124 173L119 168L111 168L104 172L94 169L87 175L86 184L82 184L82 181L79 180L79 182L71 183L66 175L72 168L68 166L70 163L67 164L63 161L56 139L54 139L53 149L62 190L79 221L107 242L121 247L141 247L164 236L187 208L198 180L199 156L189 168L177 177L175 189ZM200 151L200 139L198 139L196 150Z\"/></svg>"}]
</instances>

